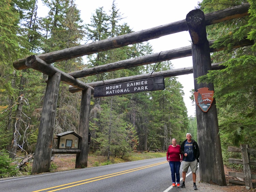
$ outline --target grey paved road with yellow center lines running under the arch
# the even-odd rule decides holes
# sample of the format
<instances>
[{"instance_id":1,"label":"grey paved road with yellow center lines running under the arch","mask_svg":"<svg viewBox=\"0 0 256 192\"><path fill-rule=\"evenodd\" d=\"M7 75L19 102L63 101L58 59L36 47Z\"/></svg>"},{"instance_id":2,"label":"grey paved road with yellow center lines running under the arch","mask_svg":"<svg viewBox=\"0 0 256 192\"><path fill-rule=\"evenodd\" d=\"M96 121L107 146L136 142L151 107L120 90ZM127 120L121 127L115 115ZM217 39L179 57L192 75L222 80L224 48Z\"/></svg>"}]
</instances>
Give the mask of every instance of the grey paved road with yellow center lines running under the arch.
<instances>
[{"instance_id":1,"label":"grey paved road with yellow center lines running under the arch","mask_svg":"<svg viewBox=\"0 0 256 192\"><path fill-rule=\"evenodd\" d=\"M191 179L190 174L186 178L186 187L188 184L193 186ZM183 190L177 187L172 188L171 184L171 171L166 158L156 158L28 177L0 179L0 191L174 192Z\"/></svg>"}]
</instances>

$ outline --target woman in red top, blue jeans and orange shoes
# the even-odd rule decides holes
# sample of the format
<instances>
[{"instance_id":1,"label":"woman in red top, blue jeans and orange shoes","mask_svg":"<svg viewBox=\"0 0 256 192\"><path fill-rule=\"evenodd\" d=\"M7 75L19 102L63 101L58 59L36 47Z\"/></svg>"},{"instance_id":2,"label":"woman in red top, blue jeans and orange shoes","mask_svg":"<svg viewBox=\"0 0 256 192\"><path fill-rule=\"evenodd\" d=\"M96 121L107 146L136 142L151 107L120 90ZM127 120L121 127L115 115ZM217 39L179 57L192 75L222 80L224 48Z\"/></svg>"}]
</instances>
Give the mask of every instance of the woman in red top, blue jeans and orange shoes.
<instances>
[{"instance_id":1,"label":"woman in red top, blue jeans and orange shoes","mask_svg":"<svg viewBox=\"0 0 256 192\"><path fill-rule=\"evenodd\" d=\"M172 187L175 187L175 174L176 174L177 187L179 187L180 186L180 166L181 166L183 155L181 154L181 146L177 145L177 140L174 138L172 139L172 145L168 147L166 157L171 167Z\"/></svg>"}]
</instances>

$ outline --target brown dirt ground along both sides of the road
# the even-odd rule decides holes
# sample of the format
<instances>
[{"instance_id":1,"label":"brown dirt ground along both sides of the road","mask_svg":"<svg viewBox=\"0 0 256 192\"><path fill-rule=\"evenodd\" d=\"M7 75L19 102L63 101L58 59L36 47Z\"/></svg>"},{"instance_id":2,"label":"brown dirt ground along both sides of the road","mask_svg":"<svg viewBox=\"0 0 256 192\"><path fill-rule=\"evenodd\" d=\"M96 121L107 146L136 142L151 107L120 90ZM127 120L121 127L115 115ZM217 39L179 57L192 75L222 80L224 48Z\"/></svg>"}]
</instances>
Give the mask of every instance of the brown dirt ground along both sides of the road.
<instances>
[{"instance_id":1,"label":"brown dirt ground along both sides of the road","mask_svg":"<svg viewBox=\"0 0 256 192\"><path fill-rule=\"evenodd\" d=\"M97 166L98 162L104 162L105 157L98 156L97 157L97 162L93 157L88 157L88 167L94 167ZM74 169L75 168L75 155L70 154L70 155L61 155L58 156L56 155L52 161L54 163L54 168L52 171L65 171L69 169ZM226 166L224 166L224 171L225 171L225 177L226 177L226 183L227 186L217 186L214 184L209 184L205 182L197 182L197 191L216 191L216 192L256 192L256 189L250 189L247 190L245 189L245 186L238 186L234 184L229 184L228 180L229 179L236 179L232 176L228 175L229 171L234 171ZM197 173L197 178L199 178L199 173ZM191 188L192 189L192 188ZM182 192L186 191L191 191L189 187L186 187L182 189ZM194 190L193 190L194 191Z\"/></svg>"}]
</instances>

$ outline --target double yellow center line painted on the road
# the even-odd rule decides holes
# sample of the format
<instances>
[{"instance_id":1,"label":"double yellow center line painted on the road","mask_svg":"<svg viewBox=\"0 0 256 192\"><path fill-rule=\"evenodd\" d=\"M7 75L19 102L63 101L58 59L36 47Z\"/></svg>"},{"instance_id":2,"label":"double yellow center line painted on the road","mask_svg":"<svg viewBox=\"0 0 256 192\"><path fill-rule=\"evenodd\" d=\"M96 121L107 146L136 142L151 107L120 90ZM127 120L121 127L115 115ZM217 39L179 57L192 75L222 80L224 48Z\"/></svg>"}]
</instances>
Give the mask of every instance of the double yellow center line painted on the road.
<instances>
[{"instance_id":1,"label":"double yellow center line painted on the road","mask_svg":"<svg viewBox=\"0 0 256 192\"><path fill-rule=\"evenodd\" d=\"M99 177L94 177L94 178L90 178L90 179L85 179L85 180L81 180L81 181L76 181L76 182L72 182L72 183L67 183L67 184L63 184L63 185L59 185L59 186L55 186L55 187L51 187L51 188L46 188L46 189L41 189L41 190L33 191L33 192L45 191L45 190L48 190L48 189L54 189L54 188L58 188L58 187L67 186L67 185L70 185L70 184L75 184L75 183L87 181L87 182L75 184L75 185L72 185L72 186L68 186L68 187L64 187L64 188L60 188L60 189L55 189L55 190L52 190L52 191L58 191L58 190L61 190L61 189L67 189L67 188L70 188L70 187L79 186L79 185L81 185L81 184L86 184L86 183L90 183L90 182L93 182L93 181L98 181L98 180L102 180L102 179L106 179L106 178L110 178L110 177L114 177L114 176L118 176L118 175L123 175L123 174L125 174L125 173L131 173L131 172L134 172L134 171L139 171L139 170L141 170L141 169L153 167L153 166L156 166L156 165L161 165L161 164L166 163L166 162L167 162L167 161L163 161L163 162L159 162L159 163L154 163L154 164L152 164L152 165L146 165L146 166L142 166L142 167L137 167L137 168L133 168L133 169L128 169L128 170L126 170L126 171L121 171L121 172L112 173L112 174L108 174L108 175L102 175L102 176L99 176ZM124 173L124 172L125 172L125 173ZM100 178L100 177L103 177L103 178ZM100 179L97 179L97 178L100 178ZM95 180L88 181L88 180L91 180L91 179L95 179ZM48 192L51 192L51 191L48 191Z\"/></svg>"}]
</instances>

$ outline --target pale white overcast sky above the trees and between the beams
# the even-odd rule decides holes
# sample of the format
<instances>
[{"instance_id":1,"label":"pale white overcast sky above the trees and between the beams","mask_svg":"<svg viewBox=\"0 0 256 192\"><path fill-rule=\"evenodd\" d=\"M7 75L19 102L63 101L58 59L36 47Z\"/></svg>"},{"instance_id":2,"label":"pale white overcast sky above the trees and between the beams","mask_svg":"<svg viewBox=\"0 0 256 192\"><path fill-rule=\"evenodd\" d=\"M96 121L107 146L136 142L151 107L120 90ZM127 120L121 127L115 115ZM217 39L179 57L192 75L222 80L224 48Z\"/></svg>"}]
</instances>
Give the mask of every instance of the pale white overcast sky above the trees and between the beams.
<instances>
[{"instance_id":1,"label":"pale white overcast sky above the trees and between the beams","mask_svg":"<svg viewBox=\"0 0 256 192\"><path fill-rule=\"evenodd\" d=\"M163 24L172 23L183 20L189 11L194 10L202 0L115 0L116 7L119 13L126 17L122 20L127 23L133 31L140 31L156 27ZM104 8L104 11L109 13L113 0L75 0L77 8L81 10L81 18L84 24L90 23L91 15L99 7ZM40 11L45 10L39 6ZM188 31L166 35L158 39L150 40L153 46L154 53L170 50L174 48L191 45L191 38ZM174 68L192 67L192 57L171 60ZM183 85L184 102L188 110L188 116L195 116L195 106L189 99L191 89L194 89L193 74L178 76L179 82Z\"/></svg>"}]
</instances>

